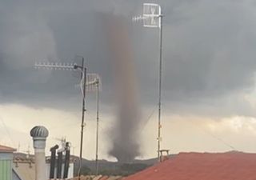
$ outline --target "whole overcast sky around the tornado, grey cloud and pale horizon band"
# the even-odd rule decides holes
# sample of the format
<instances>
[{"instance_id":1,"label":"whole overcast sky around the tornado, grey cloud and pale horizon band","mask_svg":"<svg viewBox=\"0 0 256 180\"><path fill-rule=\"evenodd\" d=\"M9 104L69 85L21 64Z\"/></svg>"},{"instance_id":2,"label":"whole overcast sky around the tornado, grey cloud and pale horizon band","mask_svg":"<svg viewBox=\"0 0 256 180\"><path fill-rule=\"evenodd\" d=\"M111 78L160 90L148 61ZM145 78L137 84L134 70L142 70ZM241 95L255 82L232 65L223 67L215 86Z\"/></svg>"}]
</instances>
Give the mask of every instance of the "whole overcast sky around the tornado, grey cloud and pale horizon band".
<instances>
[{"instance_id":1,"label":"whole overcast sky around the tornado, grey cloud and pale horizon band","mask_svg":"<svg viewBox=\"0 0 256 180\"><path fill-rule=\"evenodd\" d=\"M81 93L75 72L35 70L34 62L79 62L102 78L101 158L116 118L113 64L102 17L130 23L142 110L142 157L156 155L158 30L129 22L142 1L0 0L0 144L26 150L29 130L65 136L78 154ZM152 1L150 1L152 2ZM162 147L181 151L256 152L256 1L162 0L164 12ZM88 94L86 158L94 158L95 94Z\"/></svg>"}]
</instances>

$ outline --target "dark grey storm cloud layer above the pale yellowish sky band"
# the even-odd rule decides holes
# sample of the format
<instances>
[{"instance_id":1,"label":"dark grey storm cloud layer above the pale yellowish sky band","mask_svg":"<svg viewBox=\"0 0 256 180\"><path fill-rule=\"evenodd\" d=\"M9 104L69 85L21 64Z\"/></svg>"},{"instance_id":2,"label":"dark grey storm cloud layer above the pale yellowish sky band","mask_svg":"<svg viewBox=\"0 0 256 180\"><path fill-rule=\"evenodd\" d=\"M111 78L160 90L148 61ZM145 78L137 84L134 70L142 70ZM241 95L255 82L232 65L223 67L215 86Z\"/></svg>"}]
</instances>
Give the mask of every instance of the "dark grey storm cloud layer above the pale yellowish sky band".
<instances>
[{"instance_id":1,"label":"dark grey storm cloud layer above the pale yellowish sky band","mask_svg":"<svg viewBox=\"0 0 256 180\"><path fill-rule=\"evenodd\" d=\"M112 65L100 17L122 14L131 18L140 13L142 2L0 3L1 103L67 107L79 101L78 90L74 88L78 78L69 72L31 68L36 60L46 58L70 62L75 54L85 56L90 72L102 76L102 101L105 105L112 103ZM165 14L163 101L167 108L171 105L173 113L201 114L207 108L209 114L218 114L219 109L226 110L225 115L250 114L251 107L241 100L241 94L250 92L254 86L255 3L249 0L159 3ZM146 105L154 105L158 91L158 32L139 26L134 25L138 28L133 28L132 33L140 94ZM243 108L226 97L242 101Z\"/></svg>"}]
</instances>

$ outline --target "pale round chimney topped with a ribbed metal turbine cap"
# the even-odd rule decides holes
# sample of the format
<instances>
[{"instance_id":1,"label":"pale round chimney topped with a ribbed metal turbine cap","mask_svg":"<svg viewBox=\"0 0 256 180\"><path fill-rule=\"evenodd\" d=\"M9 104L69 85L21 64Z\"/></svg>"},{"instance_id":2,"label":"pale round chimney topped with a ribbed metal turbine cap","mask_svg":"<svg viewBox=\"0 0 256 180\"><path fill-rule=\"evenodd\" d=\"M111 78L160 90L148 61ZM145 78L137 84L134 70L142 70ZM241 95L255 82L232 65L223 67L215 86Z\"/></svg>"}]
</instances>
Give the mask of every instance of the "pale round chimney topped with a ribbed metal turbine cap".
<instances>
[{"instance_id":1,"label":"pale round chimney topped with a ribbed metal turbine cap","mask_svg":"<svg viewBox=\"0 0 256 180\"><path fill-rule=\"evenodd\" d=\"M46 138L48 130L44 126L34 126L30 130L33 138L34 157L35 157L35 180L46 180Z\"/></svg>"}]
</instances>

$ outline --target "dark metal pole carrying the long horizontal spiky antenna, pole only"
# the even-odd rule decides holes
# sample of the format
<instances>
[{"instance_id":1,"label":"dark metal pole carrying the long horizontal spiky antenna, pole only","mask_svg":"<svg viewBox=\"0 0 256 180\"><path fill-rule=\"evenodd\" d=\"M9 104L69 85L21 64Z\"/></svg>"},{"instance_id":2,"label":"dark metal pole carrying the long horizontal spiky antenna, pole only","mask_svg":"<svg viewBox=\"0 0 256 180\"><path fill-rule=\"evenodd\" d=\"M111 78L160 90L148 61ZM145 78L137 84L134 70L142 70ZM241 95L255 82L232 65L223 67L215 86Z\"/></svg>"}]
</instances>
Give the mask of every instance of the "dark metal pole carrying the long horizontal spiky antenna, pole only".
<instances>
[{"instance_id":1,"label":"dark metal pole carrying the long horizontal spiky antenna, pole only","mask_svg":"<svg viewBox=\"0 0 256 180\"><path fill-rule=\"evenodd\" d=\"M86 106L86 67L84 58L82 58L82 78L83 78L83 85L82 85L82 123L81 123L81 138L80 138L80 155L79 155L79 169L78 169L78 180L80 180L81 176L81 168L82 168L82 142L83 142L83 129L84 129L84 122L85 122L85 106Z\"/></svg>"}]
</instances>

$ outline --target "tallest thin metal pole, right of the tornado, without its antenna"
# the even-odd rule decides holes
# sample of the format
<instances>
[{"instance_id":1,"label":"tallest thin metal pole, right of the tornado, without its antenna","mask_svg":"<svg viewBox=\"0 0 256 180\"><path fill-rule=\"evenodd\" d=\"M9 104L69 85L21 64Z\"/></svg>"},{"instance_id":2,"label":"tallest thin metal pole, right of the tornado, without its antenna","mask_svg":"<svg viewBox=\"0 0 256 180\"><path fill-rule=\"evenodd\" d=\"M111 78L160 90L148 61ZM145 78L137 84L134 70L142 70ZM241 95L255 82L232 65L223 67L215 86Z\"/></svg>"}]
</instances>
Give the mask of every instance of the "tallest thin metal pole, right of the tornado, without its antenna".
<instances>
[{"instance_id":1,"label":"tallest thin metal pole, right of the tornado, without its antenna","mask_svg":"<svg viewBox=\"0 0 256 180\"><path fill-rule=\"evenodd\" d=\"M159 96L158 96L158 161L160 162L160 143L161 143L161 95L162 95L162 14L159 15Z\"/></svg>"}]
</instances>

